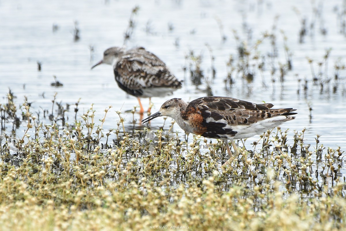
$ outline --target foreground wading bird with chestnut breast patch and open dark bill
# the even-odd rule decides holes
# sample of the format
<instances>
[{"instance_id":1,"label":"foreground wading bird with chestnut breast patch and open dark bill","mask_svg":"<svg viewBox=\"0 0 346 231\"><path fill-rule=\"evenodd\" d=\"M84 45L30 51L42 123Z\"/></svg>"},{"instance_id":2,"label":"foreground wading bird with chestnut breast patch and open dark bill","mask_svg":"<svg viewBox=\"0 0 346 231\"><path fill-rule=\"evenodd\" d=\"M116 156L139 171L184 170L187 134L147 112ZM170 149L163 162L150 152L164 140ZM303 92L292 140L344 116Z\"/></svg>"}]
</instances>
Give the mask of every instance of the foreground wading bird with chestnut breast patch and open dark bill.
<instances>
[{"instance_id":1,"label":"foreground wading bird with chestnut breast patch and open dark bill","mask_svg":"<svg viewBox=\"0 0 346 231\"><path fill-rule=\"evenodd\" d=\"M159 116L172 117L187 133L225 141L229 159L232 157L228 139L236 156L239 151L233 139L245 139L261 135L266 130L293 120L296 109L271 109L273 104L255 104L228 97L208 96L195 99L189 104L182 99L170 99L160 110L142 120L148 122ZM229 159L222 165L226 165Z\"/></svg>"}]
</instances>

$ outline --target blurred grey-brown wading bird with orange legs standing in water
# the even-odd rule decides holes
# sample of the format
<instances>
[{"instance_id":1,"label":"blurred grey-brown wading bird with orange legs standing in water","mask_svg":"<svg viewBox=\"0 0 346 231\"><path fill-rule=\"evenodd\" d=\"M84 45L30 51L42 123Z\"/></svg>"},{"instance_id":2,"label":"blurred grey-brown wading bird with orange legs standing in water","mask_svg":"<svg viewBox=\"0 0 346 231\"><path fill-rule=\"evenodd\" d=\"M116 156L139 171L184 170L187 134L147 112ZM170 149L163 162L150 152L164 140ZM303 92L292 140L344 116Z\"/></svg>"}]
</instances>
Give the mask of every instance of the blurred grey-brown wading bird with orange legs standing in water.
<instances>
[{"instance_id":1,"label":"blurred grey-brown wading bird with orange legs standing in water","mask_svg":"<svg viewBox=\"0 0 346 231\"><path fill-rule=\"evenodd\" d=\"M113 65L115 81L121 90L137 97L140 113L144 109L140 98L163 97L173 94L182 87L181 81L171 73L166 64L156 55L143 47L125 50L121 47L111 47L104 51L100 62ZM148 109L150 112L150 108Z\"/></svg>"}]
</instances>

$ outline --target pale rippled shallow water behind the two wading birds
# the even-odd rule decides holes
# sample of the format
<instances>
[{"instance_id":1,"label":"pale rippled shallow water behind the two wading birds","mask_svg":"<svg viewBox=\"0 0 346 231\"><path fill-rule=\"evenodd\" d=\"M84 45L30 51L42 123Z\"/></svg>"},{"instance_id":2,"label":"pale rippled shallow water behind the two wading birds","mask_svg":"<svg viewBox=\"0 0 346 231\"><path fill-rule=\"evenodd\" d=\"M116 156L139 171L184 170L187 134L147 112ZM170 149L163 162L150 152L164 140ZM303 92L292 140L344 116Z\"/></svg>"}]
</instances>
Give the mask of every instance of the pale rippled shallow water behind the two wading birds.
<instances>
[{"instance_id":1,"label":"pale rippled shallow water behind the two wading birds","mask_svg":"<svg viewBox=\"0 0 346 231\"><path fill-rule=\"evenodd\" d=\"M338 18L342 12L342 1L66 1L49 2L34 1L0 1L0 103L6 103L8 89L17 96L16 104L23 102L24 96L37 111L52 108L52 99L57 92L57 102L73 104L81 98L79 115L94 103L96 118L103 116L104 108L112 105L104 124L104 128L115 128L119 117L115 111L129 110L137 105L136 98L127 96L114 81L112 67L101 65L90 67L98 62L103 50L110 46L122 46L124 33L129 23L131 10L139 6L134 16L135 28L127 47L143 46L160 57L177 78L184 80L182 89L174 92L174 97L186 101L206 96L206 79L202 80L199 89L191 84L189 73L184 73L185 56L193 50L195 55L202 55L201 69L209 76L213 95L230 96L251 102L262 101L273 103L276 108L296 108L295 120L282 125L282 129L301 131L307 128L305 143L315 144L316 134L321 135L320 144L346 149L346 81L345 71L340 70L338 80L334 79L335 63L341 59L344 64L346 52L345 34L340 33ZM293 8L298 9L296 13ZM313 14L317 7L319 16ZM275 18L279 16L279 18ZM304 43L299 43L301 18L307 20L307 35ZM341 18L341 19L340 19ZM227 39L222 42L218 20L222 24L222 33ZM80 39L74 41L74 21L78 22ZM310 23L314 21L314 28ZM169 30L169 24L174 29ZM53 25L58 29L53 31ZM273 30L273 25L275 29ZM327 30L326 35L320 28ZM272 53L270 39L266 38L258 47L260 56L265 57L265 70L254 71L254 81L247 83L240 74L233 73L235 83L225 87L227 76L226 63L233 55L238 62L237 46L232 30L236 30L240 40L253 47L261 35L268 31L276 36L278 57L272 63L268 54ZM252 31L247 33L247 31ZM288 71L284 81L280 82L279 63L285 64L284 41L281 34L287 37L287 46L292 55L293 70ZM179 43L179 46L175 45ZM216 77L211 78L211 59L208 44L215 57ZM90 52L89 46L94 47ZM326 49L331 48L328 69L322 65L322 78L330 78L320 91L319 84L313 84L311 68L307 57L313 59L315 74L318 74L318 62L324 63ZM252 54L253 56L253 54ZM42 71L37 71L36 62L42 62ZM272 83L271 69L276 68ZM63 87L52 87L53 75L63 83ZM298 75L298 77L297 77ZM267 87L263 87L262 78ZM297 78L301 79L298 83ZM307 80L304 93L303 84ZM329 86L329 87L328 87ZM336 86L336 92L333 87ZM297 90L300 93L297 94ZM44 95L44 96L43 96ZM172 98L153 98L153 111ZM309 117L310 103L312 118ZM143 99L144 107L148 100ZM42 109L40 109L42 108ZM57 107L55 107L56 109ZM70 113L73 117L73 109ZM126 126L130 128L131 113L123 113ZM140 120L135 114L137 123ZM72 119L68 122L72 123ZM152 128L162 126L163 118L152 121ZM165 128L169 128L170 119ZM136 126L138 128L138 126ZM9 133L11 129L3 132ZM25 128L17 129L20 135ZM178 126L174 130L183 132ZM293 132L291 133L293 136ZM115 135L111 135L113 138ZM111 137L112 138L112 137ZM249 140L258 140L258 137ZM249 142L247 142L249 144Z\"/></svg>"}]
</instances>

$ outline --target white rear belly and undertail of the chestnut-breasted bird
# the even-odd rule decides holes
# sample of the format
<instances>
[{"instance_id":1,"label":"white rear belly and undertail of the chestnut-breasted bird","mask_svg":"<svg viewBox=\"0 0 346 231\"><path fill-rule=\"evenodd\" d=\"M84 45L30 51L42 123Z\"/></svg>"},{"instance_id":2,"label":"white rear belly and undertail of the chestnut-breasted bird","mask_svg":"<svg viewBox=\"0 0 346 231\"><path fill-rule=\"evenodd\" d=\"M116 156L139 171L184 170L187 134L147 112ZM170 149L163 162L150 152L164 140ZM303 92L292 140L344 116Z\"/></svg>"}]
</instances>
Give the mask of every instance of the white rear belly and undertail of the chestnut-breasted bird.
<instances>
[{"instance_id":1,"label":"white rear belly and undertail of the chestnut-breasted bird","mask_svg":"<svg viewBox=\"0 0 346 231\"><path fill-rule=\"evenodd\" d=\"M275 128L287 121L287 117L284 115L278 115L273 118L268 118L265 120L258 121L251 124L239 124L231 126L234 131L237 131L237 134L232 139L245 139L253 137L255 135L262 135L266 130Z\"/></svg>"}]
</instances>

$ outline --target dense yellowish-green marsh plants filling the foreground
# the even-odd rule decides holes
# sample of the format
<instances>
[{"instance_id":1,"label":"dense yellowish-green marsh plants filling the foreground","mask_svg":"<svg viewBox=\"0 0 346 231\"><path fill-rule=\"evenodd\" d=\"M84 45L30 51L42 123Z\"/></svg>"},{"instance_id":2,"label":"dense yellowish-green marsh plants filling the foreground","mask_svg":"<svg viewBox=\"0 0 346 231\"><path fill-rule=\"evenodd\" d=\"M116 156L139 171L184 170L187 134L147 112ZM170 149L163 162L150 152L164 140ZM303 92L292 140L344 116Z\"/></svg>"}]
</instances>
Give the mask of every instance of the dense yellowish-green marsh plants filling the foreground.
<instances>
[{"instance_id":1,"label":"dense yellowish-green marsh plants filling the foreground","mask_svg":"<svg viewBox=\"0 0 346 231\"><path fill-rule=\"evenodd\" d=\"M221 140L181 140L174 123L126 131L119 111L106 133L111 107L96 119L93 105L81 115L58 104L51 121L34 116L27 99L19 109L0 104L5 129L19 112L26 127L0 139L0 230L346 228L344 153L319 136L305 144L305 129L243 140L241 155L221 168Z\"/></svg>"}]
</instances>

